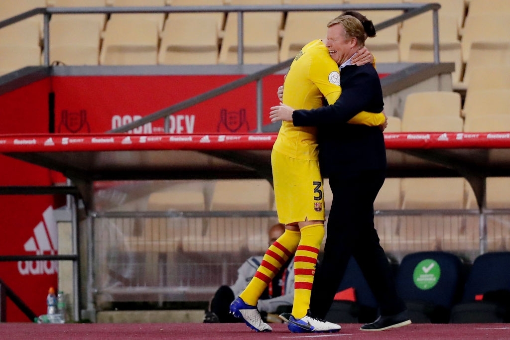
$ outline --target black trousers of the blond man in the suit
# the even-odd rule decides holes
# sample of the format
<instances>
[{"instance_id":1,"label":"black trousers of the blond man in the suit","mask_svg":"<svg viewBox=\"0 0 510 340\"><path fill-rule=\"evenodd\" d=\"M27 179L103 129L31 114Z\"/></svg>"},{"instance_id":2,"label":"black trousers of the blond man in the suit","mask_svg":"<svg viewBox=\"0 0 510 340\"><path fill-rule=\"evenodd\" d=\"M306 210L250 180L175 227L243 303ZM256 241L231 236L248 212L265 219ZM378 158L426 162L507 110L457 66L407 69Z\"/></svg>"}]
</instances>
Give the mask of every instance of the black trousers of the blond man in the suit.
<instances>
[{"instance_id":1,"label":"black trousers of the blond man in the suit","mask_svg":"<svg viewBox=\"0 0 510 340\"><path fill-rule=\"evenodd\" d=\"M385 170L329 175L333 192L324 257L317 268L310 308L323 319L333 302L351 255L358 262L383 316L405 309L398 297L388 258L374 228L373 203Z\"/></svg>"}]
</instances>

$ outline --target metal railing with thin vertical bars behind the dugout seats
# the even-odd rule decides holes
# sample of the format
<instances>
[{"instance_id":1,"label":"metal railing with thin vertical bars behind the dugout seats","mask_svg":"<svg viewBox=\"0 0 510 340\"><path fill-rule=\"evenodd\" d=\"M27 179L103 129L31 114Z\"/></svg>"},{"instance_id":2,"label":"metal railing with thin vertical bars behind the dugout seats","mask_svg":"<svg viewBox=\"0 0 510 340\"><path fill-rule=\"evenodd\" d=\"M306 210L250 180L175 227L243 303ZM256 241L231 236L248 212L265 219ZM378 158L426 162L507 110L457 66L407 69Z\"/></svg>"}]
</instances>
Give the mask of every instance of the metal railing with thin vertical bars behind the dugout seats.
<instances>
[{"instance_id":1,"label":"metal railing with thin vertical bars behind the dugout seats","mask_svg":"<svg viewBox=\"0 0 510 340\"><path fill-rule=\"evenodd\" d=\"M378 211L374 223L382 247L397 261L413 252L442 250L472 262L483 252L510 247L510 211L486 215L483 231L477 210ZM94 212L96 297L208 301L218 286L235 281L248 256L264 253L275 216L274 211Z\"/></svg>"}]
</instances>

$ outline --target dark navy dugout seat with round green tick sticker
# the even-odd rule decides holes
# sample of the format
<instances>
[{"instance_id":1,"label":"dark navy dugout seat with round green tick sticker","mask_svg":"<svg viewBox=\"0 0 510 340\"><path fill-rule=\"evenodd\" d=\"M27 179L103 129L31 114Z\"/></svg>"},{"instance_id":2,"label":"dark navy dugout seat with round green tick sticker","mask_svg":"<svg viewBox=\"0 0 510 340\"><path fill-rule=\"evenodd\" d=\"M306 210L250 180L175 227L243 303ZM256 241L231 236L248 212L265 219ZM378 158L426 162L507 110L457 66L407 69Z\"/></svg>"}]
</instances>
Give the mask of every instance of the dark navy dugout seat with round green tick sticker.
<instances>
[{"instance_id":1,"label":"dark navy dugout seat with round green tick sticker","mask_svg":"<svg viewBox=\"0 0 510 340\"><path fill-rule=\"evenodd\" d=\"M413 323L448 323L451 308L462 297L464 266L457 255L424 251L405 255L396 285Z\"/></svg>"}]
</instances>

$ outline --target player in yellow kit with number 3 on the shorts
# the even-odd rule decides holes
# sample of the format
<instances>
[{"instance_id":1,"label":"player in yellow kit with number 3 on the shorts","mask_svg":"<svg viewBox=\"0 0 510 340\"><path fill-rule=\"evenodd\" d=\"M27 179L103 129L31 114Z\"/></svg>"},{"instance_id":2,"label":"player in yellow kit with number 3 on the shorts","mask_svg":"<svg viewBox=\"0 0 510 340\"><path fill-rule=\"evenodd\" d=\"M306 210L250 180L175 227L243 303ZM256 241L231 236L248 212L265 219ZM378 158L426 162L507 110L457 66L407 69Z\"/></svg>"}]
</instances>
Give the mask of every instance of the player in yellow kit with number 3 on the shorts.
<instances>
[{"instance_id":1,"label":"player in yellow kit with number 3 on the shorts","mask_svg":"<svg viewBox=\"0 0 510 340\"><path fill-rule=\"evenodd\" d=\"M340 73L322 40L305 45L292 62L284 84L284 103L293 108L315 109L323 98L333 104L341 94ZM362 112L349 123L381 125L383 113ZM271 331L257 309L267 284L292 254L294 257L294 304L289 323L292 332L337 332L340 325L310 315L310 295L320 245L324 237L325 207L319 169L315 127L296 127L284 121L271 153L278 220L286 225L246 289L231 304L234 316L256 331Z\"/></svg>"}]
</instances>

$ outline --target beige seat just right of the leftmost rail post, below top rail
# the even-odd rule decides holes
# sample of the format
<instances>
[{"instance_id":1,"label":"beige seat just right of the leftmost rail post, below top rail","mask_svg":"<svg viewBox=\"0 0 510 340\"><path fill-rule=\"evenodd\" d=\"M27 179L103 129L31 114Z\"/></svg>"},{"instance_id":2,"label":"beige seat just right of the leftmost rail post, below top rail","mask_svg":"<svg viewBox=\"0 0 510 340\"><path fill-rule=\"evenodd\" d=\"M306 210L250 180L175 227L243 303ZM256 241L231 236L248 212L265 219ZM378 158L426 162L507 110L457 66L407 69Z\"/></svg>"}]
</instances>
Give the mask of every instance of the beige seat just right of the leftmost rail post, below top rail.
<instances>
[{"instance_id":1,"label":"beige seat just right of the leftmost rail post, below top rail","mask_svg":"<svg viewBox=\"0 0 510 340\"><path fill-rule=\"evenodd\" d=\"M74 16L49 23L49 62L98 65L102 26L96 19Z\"/></svg>"}]
</instances>

